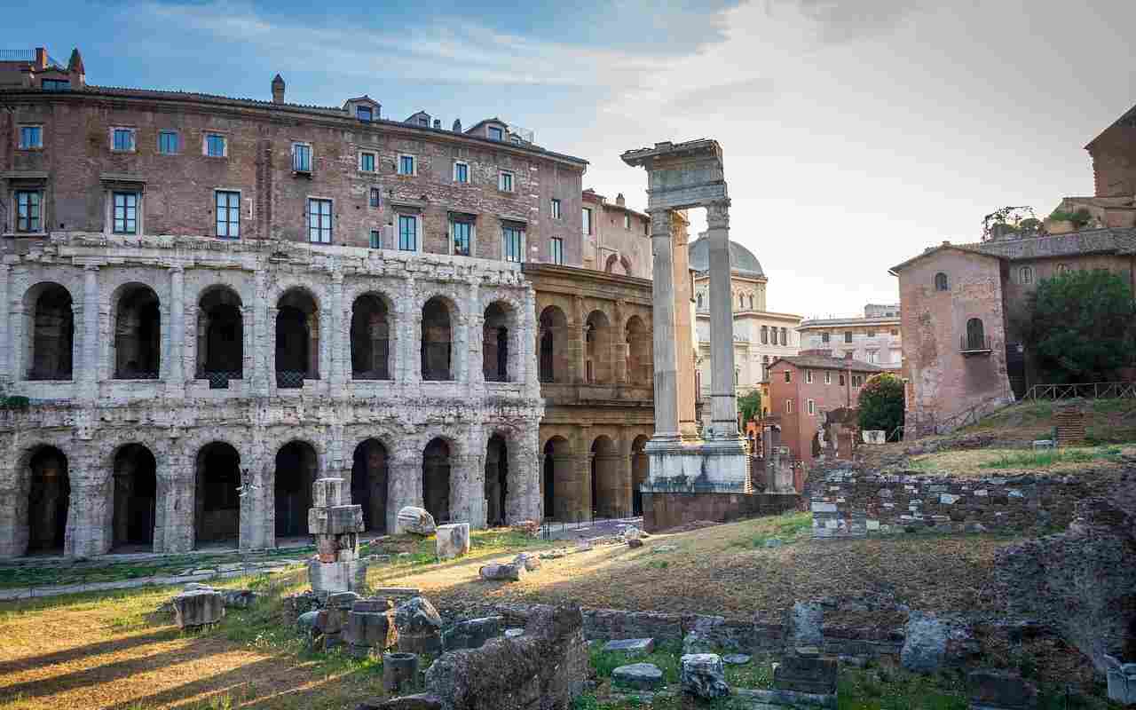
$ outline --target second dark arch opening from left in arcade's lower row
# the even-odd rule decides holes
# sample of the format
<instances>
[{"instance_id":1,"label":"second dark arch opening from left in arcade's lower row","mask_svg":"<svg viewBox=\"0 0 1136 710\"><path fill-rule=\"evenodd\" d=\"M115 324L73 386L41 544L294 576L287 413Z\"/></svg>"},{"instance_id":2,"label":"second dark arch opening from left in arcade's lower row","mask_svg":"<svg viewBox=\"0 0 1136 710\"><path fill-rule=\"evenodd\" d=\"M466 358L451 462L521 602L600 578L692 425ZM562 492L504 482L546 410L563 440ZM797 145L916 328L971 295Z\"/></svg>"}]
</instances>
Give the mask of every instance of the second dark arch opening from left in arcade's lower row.
<instances>
[{"instance_id":1,"label":"second dark arch opening from left in arcade's lower row","mask_svg":"<svg viewBox=\"0 0 1136 710\"><path fill-rule=\"evenodd\" d=\"M110 541L114 552L152 552L158 513L158 462L143 444L115 452L110 486Z\"/></svg>"}]
</instances>

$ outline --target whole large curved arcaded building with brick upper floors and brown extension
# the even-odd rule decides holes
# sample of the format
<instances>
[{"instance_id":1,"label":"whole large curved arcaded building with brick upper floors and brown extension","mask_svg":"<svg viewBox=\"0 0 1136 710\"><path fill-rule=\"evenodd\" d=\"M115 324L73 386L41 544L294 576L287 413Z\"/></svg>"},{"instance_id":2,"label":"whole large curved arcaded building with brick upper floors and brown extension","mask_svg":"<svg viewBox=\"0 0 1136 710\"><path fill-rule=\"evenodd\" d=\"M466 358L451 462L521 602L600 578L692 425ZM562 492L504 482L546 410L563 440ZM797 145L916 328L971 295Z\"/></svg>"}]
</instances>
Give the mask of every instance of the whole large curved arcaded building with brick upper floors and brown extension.
<instances>
[{"instance_id":1,"label":"whole large curved arcaded building with brick upper floors and brown extension","mask_svg":"<svg viewBox=\"0 0 1136 710\"><path fill-rule=\"evenodd\" d=\"M0 412L0 556L272 548L324 475L375 532L411 503L537 518L549 307L575 350L543 386L616 412L565 437L595 451L577 504L628 503L650 284L579 268L584 160L279 76L258 101L90 85L78 52L66 86L11 72L0 384L32 406Z\"/></svg>"}]
</instances>

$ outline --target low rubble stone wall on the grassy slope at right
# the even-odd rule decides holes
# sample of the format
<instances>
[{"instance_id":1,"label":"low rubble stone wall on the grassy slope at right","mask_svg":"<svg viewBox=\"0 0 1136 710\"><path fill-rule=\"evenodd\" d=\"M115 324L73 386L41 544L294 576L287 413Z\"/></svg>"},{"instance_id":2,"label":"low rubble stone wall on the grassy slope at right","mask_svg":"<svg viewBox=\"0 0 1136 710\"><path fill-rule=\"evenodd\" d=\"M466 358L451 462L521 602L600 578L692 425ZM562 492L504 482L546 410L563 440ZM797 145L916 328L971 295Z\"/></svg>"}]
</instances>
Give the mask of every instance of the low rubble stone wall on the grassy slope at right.
<instances>
[{"instance_id":1,"label":"low rubble stone wall on the grassy slope at right","mask_svg":"<svg viewBox=\"0 0 1136 710\"><path fill-rule=\"evenodd\" d=\"M815 537L917 532L1047 531L1074 518L1093 490L1093 471L1078 476L960 478L815 471L809 492Z\"/></svg>"}]
</instances>

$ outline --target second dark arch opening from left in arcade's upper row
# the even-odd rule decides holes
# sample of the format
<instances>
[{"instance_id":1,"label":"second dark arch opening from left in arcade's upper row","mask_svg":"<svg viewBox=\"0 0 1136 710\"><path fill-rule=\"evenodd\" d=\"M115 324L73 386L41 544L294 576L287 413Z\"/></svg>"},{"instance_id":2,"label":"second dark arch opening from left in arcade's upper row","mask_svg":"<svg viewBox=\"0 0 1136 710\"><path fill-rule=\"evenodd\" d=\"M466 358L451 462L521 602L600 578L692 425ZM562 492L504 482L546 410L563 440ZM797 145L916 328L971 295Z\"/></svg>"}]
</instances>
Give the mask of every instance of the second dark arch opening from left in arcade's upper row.
<instances>
[{"instance_id":1,"label":"second dark arch opening from left in arcade's upper row","mask_svg":"<svg viewBox=\"0 0 1136 710\"><path fill-rule=\"evenodd\" d=\"M131 282L115 291L115 379L157 379L161 373L161 302L150 286Z\"/></svg>"}]
</instances>

